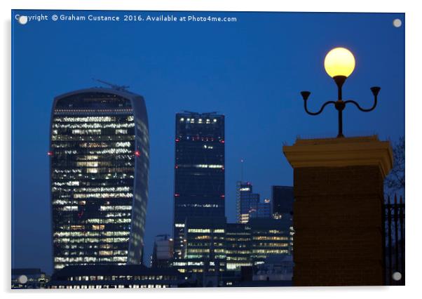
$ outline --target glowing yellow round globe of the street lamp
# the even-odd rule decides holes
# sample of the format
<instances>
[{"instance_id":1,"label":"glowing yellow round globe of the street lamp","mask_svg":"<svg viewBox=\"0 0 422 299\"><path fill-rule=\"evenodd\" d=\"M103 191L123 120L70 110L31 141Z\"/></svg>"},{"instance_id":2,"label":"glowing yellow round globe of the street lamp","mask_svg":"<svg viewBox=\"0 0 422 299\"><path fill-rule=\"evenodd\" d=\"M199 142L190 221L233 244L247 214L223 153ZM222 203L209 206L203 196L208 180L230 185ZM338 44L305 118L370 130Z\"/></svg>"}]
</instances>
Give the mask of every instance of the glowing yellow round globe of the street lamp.
<instances>
[{"instance_id":1,"label":"glowing yellow round globe of the street lamp","mask_svg":"<svg viewBox=\"0 0 422 299\"><path fill-rule=\"evenodd\" d=\"M355 57L346 48L334 48L325 56L324 67L329 77L349 77L355 69Z\"/></svg>"}]
</instances>

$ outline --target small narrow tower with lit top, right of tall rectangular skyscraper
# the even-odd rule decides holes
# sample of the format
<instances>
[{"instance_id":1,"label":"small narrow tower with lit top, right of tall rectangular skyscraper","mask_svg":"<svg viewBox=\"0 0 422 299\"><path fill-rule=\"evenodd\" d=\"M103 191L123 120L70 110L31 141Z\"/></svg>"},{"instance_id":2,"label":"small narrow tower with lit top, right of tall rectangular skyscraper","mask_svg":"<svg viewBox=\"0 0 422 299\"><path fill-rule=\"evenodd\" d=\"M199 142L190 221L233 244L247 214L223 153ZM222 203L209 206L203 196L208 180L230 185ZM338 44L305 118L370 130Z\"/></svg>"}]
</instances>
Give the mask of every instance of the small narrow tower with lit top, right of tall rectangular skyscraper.
<instances>
[{"instance_id":1,"label":"small narrow tower with lit top, right of tall rectangular skyscraper","mask_svg":"<svg viewBox=\"0 0 422 299\"><path fill-rule=\"evenodd\" d=\"M237 182L236 210L238 214L238 223L247 223L251 214L256 216L258 204L259 194L252 192L252 184L250 182Z\"/></svg>"}]
</instances>

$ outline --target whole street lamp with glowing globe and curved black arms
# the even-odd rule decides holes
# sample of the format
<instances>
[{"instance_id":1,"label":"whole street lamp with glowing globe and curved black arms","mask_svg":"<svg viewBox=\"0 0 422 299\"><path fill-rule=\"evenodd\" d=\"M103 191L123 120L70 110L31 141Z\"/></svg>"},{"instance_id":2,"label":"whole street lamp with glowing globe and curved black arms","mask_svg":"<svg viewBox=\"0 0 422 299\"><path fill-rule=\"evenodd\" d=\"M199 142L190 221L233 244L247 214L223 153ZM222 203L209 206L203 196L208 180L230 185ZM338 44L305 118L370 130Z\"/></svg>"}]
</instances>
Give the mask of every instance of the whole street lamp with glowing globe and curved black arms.
<instances>
[{"instance_id":1,"label":"whole street lamp with glowing globe and curved black arms","mask_svg":"<svg viewBox=\"0 0 422 299\"><path fill-rule=\"evenodd\" d=\"M325 102L318 112L310 112L308 110L308 98L309 95L311 95L311 92L301 91L302 98L304 98L305 111L306 113L311 115L318 115L322 112L322 110L324 110L325 106L333 104L339 112L339 134L337 135L337 138L344 137L343 109L346 107L346 105L348 103L352 103L355 104L355 106L358 107L360 111L370 112L376 107L378 93L381 88L377 86L371 87L372 94L374 95L374 105L372 105L372 107L369 109L364 109L360 107L358 102L355 102L354 100L343 101L343 95L341 94L341 87L343 86L344 81L346 81L347 77L349 77L350 74L352 74L353 69L355 69L355 58L353 57L353 54L346 48L334 48L329 51L325 56L324 67L327 74L329 74L329 77L332 77L332 79L334 79L334 81L336 82L338 88L338 98L336 101L330 100L328 102Z\"/></svg>"}]
</instances>

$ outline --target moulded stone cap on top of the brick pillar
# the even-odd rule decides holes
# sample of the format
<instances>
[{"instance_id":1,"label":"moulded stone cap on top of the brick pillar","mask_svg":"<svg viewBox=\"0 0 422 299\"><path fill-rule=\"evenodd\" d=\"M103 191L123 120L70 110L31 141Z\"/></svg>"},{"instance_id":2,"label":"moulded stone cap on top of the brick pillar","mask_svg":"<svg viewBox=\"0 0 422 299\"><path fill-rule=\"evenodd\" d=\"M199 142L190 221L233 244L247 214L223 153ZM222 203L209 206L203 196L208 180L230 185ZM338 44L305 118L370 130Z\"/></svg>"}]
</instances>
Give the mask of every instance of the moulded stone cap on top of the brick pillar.
<instances>
[{"instance_id":1,"label":"moulded stone cap on top of the brick pillar","mask_svg":"<svg viewBox=\"0 0 422 299\"><path fill-rule=\"evenodd\" d=\"M377 135L351 138L297 139L283 152L293 168L379 166L385 177L393 167L389 141Z\"/></svg>"}]
</instances>

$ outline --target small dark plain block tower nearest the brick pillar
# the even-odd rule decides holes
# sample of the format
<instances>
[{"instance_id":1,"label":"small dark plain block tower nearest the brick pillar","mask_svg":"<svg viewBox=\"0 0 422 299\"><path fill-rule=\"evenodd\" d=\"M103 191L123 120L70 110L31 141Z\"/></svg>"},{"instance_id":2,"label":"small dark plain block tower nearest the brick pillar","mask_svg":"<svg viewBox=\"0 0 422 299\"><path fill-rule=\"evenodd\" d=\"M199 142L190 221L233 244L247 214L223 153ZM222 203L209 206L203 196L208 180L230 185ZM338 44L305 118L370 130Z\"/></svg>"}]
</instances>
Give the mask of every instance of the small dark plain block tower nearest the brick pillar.
<instances>
[{"instance_id":1,"label":"small dark plain block tower nearest the brick pillar","mask_svg":"<svg viewBox=\"0 0 422 299\"><path fill-rule=\"evenodd\" d=\"M271 198L273 204L273 218L280 219L283 218L283 215L292 215L294 200L293 187L273 186Z\"/></svg>"}]
</instances>

